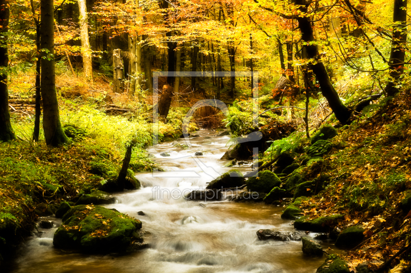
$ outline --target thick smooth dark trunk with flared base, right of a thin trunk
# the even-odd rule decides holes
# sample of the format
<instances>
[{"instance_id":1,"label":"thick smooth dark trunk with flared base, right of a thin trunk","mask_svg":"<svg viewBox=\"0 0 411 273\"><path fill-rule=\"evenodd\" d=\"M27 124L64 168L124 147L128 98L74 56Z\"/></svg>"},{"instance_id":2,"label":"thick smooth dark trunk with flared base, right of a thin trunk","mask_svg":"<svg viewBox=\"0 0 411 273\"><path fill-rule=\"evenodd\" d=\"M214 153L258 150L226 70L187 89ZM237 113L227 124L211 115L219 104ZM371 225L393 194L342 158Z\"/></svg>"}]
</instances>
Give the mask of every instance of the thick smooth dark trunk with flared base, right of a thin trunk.
<instances>
[{"instance_id":1,"label":"thick smooth dark trunk with flared base, right of a thin trunk","mask_svg":"<svg viewBox=\"0 0 411 273\"><path fill-rule=\"evenodd\" d=\"M53 0L40 1L41 25L41 93L43 96L43 129L47 145L69 142L60 123L59 102L55 91L54 6Z\"/></svg>"}]
</instances>

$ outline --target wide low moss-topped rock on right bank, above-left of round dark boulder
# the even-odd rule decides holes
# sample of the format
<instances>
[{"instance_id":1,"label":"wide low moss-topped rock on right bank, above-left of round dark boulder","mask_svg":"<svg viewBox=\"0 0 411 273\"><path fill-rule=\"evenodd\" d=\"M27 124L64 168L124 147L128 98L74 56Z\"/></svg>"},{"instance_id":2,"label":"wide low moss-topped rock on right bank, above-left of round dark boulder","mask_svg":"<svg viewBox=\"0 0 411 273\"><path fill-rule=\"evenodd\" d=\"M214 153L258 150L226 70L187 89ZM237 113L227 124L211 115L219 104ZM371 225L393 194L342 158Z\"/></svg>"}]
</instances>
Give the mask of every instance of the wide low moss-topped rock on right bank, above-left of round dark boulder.
<instances>
[{"instance_id":1,"label":"wide low moss-topped rock on right bank, above-left of round dark boulder","mask_svg":"<svg viewBox=\"0 0 411 273\"><path fill-rule=\"evenodd\" d=\"M322 216L314 220L307 220L307 217L301 217L295 220L294 228L313 232L328 232L343 218L344 216L342 214Z\"/></svg>"}]
</instances>

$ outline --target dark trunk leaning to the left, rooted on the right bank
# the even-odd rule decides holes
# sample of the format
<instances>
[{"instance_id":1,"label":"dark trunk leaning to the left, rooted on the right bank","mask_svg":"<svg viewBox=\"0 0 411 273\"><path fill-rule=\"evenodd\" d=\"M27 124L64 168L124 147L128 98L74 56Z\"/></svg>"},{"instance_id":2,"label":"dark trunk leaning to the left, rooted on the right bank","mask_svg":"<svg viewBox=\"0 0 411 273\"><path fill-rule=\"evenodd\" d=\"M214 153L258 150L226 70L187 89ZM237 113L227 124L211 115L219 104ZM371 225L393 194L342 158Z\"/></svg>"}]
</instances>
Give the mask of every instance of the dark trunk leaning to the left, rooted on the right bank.
<instances>
[{"instance_id":1,"label":"dark trunk leaning to the left, rooted on the right bank","mask_svg":"<svg viewBox=\"0 0 411 273\"><path fill-rule=\"evenodd\" d=\"M300 6L298 8L301 11L300 14L307 14L309 5L307 0L295 0L295 4ZM321 62L317 46L309 44L310 42L315 41L310 19L307 16L298 16L297 22L298 28L300 28L302 34L302 40L307 43L307 45L305 45L307 57L308 59L313 59L315 61L315 63L311 63L308 68L312 70L317 81L319 81L321 92L327 99L330 108L335 114L335 118L337 118L341 123L345 123L350 118L351 110L342 103L340 96L332 86L327 70Z\"/></svg>"}]
</instances>

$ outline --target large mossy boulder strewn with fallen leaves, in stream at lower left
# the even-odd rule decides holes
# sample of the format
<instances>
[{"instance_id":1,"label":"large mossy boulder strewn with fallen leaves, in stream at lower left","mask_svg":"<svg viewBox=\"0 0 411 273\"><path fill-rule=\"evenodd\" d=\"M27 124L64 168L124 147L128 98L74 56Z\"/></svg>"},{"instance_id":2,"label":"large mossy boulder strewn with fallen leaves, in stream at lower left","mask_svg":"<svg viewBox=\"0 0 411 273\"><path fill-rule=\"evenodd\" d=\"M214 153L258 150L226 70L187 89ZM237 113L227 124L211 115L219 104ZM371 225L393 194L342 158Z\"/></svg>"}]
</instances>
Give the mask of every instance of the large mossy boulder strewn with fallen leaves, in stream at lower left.
<instances>
[{"instance_id":1,"label":"large mossy boulder strewn with fallen leaves, in stream at lower left","mask_svg":"<svg viewBox=\"0 0 411 273\"><path fill-rule=\"evenodd\" d=\"M86 252L124 251L134 239L140 240L139 229L139 220L115 209L79 205L64 214L62 226L54 233L53 244Z\"/></svg>"}]
</instances>

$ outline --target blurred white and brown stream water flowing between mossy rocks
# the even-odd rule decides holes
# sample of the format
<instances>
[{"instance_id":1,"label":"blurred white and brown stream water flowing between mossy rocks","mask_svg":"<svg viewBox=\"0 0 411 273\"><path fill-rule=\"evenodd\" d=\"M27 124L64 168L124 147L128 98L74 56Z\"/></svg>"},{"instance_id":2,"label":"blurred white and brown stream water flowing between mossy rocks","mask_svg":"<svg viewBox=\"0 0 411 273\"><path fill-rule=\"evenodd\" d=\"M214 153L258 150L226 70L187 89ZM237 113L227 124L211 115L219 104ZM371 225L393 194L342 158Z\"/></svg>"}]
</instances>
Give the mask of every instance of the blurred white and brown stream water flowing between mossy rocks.
<instances>
[{"instance_id":1,"label":"blurred white and brown stream water flowing between mossy rocks","mask_svg":"<svg viewBox=\"0 0 411 273\"><path fill-rule=\"evenodd\" d=\"M149 247L124 255L85 255L53 248L53 233L61 224L24 244L12 272L103 273L103 272L315 272L324 258L305 257L301 241L259 241L258 229L293 230L282 220L283 207L263 203L194 202L180 192L207 186L216 173L228 171L219 160L227 150L229 136L200 130L190 139L189 149L171 143L150 147L165 172L138 173L142 188L116 194L107 208L129 214L150 231ZM184 143L183 139L179 143ZM203 155L196 160L196 151ZM168 152L170 157L160 153ZM204 167L205 166L205 167ZM237 169L246 172L251 167ZM187 191L185 191L187 192ZM226 196L227 198L227 196ZM143 211L144 216L138 215ZM312 235L310 235L312 236Z\"/></svg>"}]
</instances>

